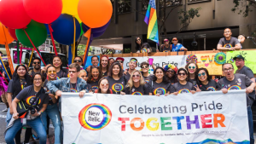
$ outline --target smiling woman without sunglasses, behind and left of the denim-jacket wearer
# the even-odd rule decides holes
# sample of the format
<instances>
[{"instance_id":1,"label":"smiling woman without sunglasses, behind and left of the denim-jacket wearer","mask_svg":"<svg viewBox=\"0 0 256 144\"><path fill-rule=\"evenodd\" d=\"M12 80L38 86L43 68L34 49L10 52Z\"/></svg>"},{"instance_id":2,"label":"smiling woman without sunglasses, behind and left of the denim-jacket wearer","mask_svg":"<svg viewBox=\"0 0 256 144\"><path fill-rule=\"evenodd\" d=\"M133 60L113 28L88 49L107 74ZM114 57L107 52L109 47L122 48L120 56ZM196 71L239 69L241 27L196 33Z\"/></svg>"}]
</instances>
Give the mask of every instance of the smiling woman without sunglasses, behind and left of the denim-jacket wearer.
<instances>
[{"instance_id":1,"label":"smiling woman without sunglasses, behind and left of the denim-jacket wearer","mask_svg":"<svg viewBox=\"0 0 256 144\"><path fill-rule=\"evenodd\" d=\"M57 79L59 78L67 78L67 69L62 67L62 60L61 57L55 55L52 60L52 65L55 66L57 72Z\"/></svg>"}]
</instances>

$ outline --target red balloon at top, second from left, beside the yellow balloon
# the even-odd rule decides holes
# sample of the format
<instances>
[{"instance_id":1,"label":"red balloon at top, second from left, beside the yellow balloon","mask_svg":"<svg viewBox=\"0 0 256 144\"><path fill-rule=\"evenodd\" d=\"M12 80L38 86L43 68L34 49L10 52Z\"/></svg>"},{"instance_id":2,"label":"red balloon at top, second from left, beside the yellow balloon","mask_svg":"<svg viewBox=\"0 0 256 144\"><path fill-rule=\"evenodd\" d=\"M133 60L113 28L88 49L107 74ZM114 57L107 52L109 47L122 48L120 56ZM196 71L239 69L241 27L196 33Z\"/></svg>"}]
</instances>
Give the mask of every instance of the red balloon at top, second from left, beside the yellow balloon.
<instances>
[{"instance_id":1,"label":"red balloon at top, second from left, beside the yellow balloon","mask_svg":"<svg viewBox=\"0 0 256 144\"><path fill-rule=\"evenodd\" d=\"M26 13L40 23L50 24L61 15L61 0L23 0L23 3Z\"/></svg>"}]
</instances>

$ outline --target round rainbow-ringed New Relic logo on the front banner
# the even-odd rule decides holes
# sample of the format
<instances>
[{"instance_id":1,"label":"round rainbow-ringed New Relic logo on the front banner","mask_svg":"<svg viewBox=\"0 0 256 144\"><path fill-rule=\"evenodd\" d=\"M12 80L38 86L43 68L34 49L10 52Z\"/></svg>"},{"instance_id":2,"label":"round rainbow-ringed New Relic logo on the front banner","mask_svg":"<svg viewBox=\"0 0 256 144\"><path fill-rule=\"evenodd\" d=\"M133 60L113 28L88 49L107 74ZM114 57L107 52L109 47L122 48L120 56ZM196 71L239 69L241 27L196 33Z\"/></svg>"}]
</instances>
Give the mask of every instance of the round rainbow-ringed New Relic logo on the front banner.
<instances>
[{"instance_id":1,"label":"round rainbow-ringed New Relic logo on the front banner","mask_svg":"<svg viewBox=\"0 0 256 144\"><path fill-rule=\"evenodd\" d=\"M79 123L87 130L101 130L110 123L111 118L112 112L103 104L93 103L79 112Z\"/></svg>"}]
</instances>

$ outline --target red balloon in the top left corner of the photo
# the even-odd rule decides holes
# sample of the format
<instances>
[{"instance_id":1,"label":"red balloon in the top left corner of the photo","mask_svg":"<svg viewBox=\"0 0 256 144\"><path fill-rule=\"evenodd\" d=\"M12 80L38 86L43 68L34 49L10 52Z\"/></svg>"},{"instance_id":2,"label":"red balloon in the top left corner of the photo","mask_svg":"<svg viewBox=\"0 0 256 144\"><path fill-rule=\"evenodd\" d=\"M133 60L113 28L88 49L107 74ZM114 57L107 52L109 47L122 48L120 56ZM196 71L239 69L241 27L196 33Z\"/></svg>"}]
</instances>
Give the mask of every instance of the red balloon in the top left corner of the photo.
<instances>
[{"instance_id":1,"label":"red balloon in the top left corner of the photo","mask_svg":"<svg viewBox=\"0 0 256 144\"><path fill-rule=\"evenodd\" d=\"M22 0L0 0L0 21L14 29L26 27L31 18L26 14Z\"/></svg>"}]
</instances>

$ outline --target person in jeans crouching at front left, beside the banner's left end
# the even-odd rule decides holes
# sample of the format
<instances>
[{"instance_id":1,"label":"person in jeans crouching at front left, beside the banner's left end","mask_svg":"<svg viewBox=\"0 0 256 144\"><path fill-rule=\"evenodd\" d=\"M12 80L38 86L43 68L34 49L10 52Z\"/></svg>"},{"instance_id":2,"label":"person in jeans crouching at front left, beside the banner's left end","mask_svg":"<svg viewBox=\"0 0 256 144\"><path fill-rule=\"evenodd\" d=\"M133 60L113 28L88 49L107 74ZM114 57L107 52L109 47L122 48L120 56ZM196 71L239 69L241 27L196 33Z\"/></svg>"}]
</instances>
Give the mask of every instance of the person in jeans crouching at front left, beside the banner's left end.
<instances>
[{"instance_id":1,"label":"person in jeans crouching at front left, beside the banner's left end","mask_svg":"<svg viewBox=\"0 0 256 144\"><path fill-rule=\"evenodd\" d=\"M38 134L40 143L46 143L46 132L40 115L46 109L49 97L45 95L45 90L42 87L44 76L41 73L35 73L32 80L33 85L22 89L14 101L12 101L14 114L13 120L11 120L12 123L9 123L6 130L6 143L15 143L15 135L23 125L32 127ZM22 107L17 107L19 102ZM20 118L23 115L25 117Z\"/></svg>"}]
</instances>

